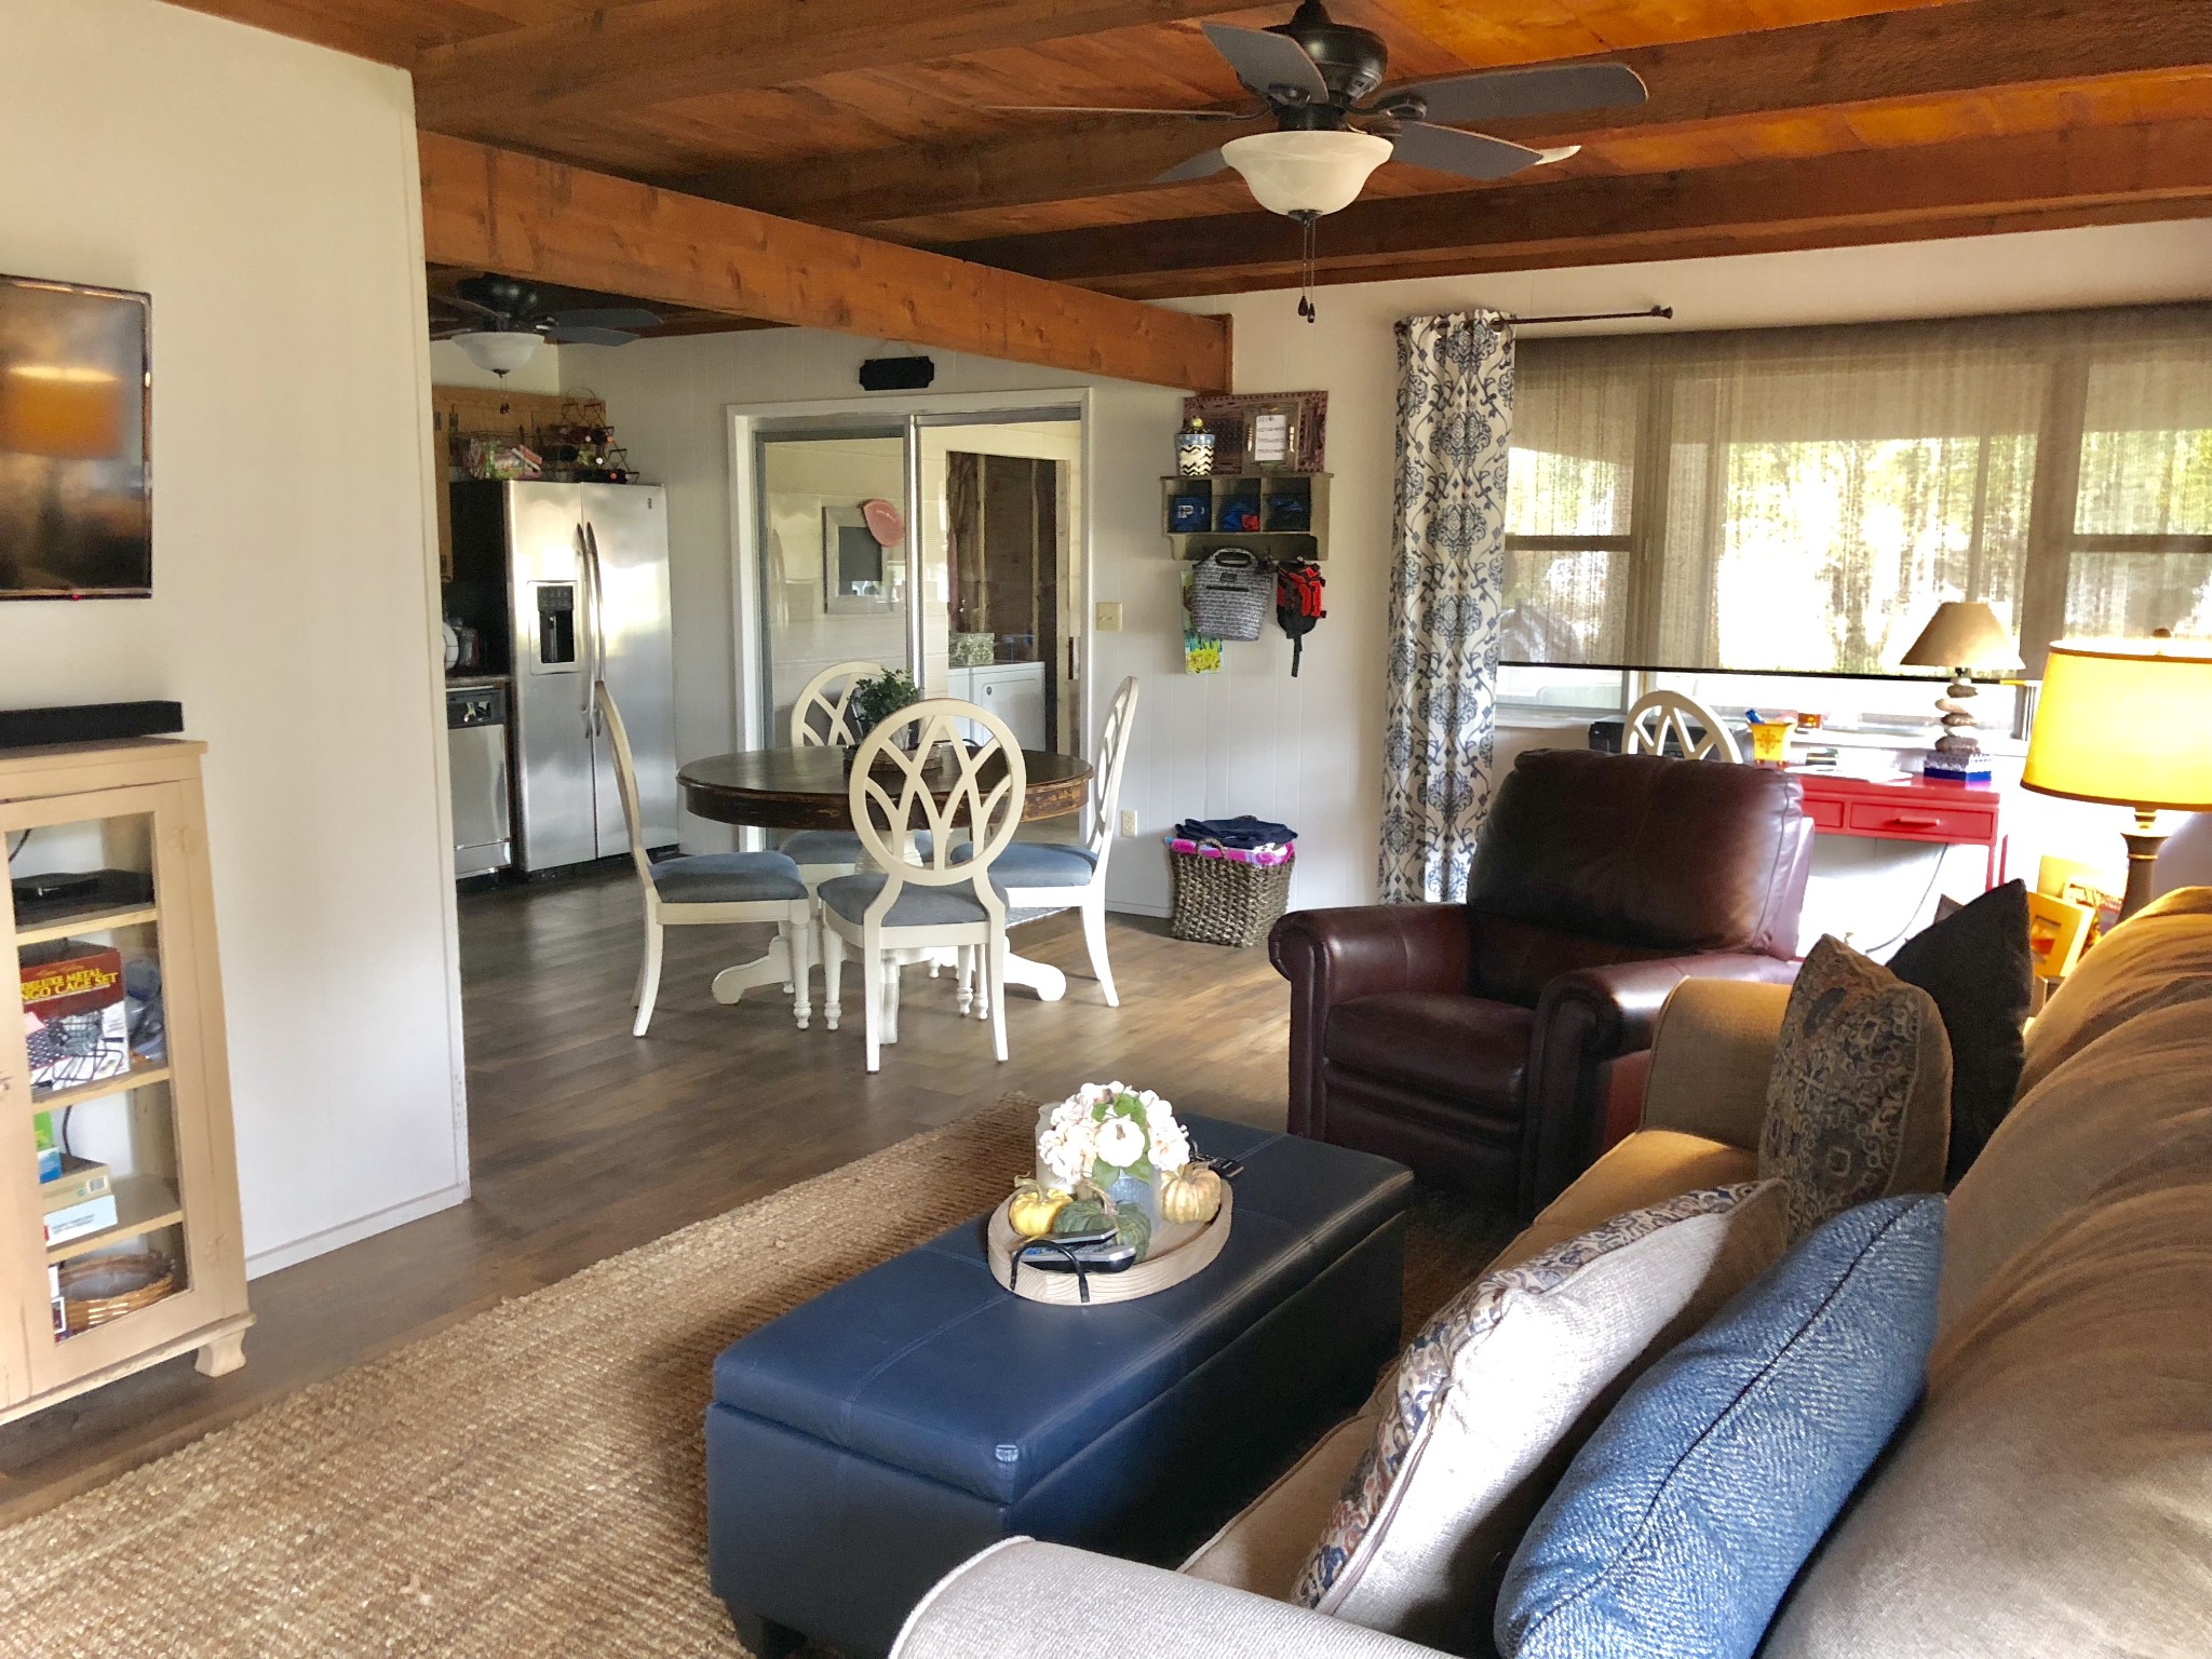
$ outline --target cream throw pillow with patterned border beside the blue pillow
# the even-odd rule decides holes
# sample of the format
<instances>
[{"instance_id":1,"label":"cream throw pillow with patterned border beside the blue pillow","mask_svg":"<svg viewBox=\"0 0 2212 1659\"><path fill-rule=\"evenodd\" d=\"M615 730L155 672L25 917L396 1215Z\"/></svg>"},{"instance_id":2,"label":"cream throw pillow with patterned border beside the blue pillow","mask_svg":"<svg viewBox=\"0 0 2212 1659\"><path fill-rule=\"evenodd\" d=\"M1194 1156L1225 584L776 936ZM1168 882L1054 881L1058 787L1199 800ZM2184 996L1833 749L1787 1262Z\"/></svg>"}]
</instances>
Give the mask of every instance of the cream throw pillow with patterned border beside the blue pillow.
<instances>
[{"instance_id":1,"label":"cream throw pillow with patterned border beside the blue pillow","mask_svg":"<svg viewBox=\"0 0 2212 1659\"><path fill-rule=\"evenodd\" d=\"M1447 1303L1378 1391L1294 1599L1455 1646L1604 1405L1783 1252L1774 1183L1632 1210Z\"/></svg>"}]
</instances>

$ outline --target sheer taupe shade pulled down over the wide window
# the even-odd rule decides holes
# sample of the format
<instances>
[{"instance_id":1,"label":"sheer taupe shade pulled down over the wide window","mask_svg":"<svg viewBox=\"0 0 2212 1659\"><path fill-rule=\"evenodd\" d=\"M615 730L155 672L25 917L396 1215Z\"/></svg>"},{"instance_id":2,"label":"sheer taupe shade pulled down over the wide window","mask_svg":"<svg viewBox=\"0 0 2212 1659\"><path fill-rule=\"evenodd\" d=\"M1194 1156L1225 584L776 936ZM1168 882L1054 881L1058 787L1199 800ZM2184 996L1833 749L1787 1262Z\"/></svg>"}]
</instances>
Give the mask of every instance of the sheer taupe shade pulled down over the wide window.
<instances>
[{"instance_id":1,"label":"sheer taupe shade pulled down over the wide window","mask_svg":"<svg viewBox=\"0 0 2212 1659\"><path fill-rule=\"evenodd\" d=\"M1962 597L2212 633L2212 310L1522 347L1509 664L1887 675Z\"/></svg>"}]
</instances>

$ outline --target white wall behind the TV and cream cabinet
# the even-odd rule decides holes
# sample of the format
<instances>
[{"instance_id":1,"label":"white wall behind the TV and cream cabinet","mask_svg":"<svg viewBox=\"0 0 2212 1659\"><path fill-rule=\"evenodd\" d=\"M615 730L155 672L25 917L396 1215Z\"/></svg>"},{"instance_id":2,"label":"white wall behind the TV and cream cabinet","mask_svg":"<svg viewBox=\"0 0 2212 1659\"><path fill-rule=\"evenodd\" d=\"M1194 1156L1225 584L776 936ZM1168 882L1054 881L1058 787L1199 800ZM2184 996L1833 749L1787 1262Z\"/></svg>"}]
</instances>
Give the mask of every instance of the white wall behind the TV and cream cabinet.
<instances>
[{"instance_id":1,"label":"white wall behind the TV and cream cabinet","mask_svg":"<svg viewBox=\"0 0 2212 1659\"><path fill-rule=\"evenodd\" d=\"M208 741L246 1250L465 1197L407 77L0 0L0 270L153 294L155 597L0 606L0 706Z\"/></svg>"}]
</instances>

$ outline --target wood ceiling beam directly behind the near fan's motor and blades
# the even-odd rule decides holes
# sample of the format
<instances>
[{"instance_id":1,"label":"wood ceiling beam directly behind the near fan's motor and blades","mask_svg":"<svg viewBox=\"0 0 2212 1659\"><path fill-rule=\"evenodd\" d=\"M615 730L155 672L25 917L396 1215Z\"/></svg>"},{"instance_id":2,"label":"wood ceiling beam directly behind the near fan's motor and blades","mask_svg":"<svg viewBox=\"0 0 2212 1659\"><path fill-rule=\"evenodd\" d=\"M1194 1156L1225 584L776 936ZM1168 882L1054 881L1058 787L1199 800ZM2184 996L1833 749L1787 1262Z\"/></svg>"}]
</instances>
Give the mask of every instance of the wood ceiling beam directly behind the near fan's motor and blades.
<instances>
[{"instance_id":1,"label":"wood ceiling beam directly behind the near fan's motor and blades","mask_svg":"<svg viewBox=\"0 0 2212 1659\"><path fill-rule=\"evenodd\" d=\"M2212 66L2212 7L2174 0L1958 0L1845 22L1606 53L1652 88L1599 117L1491 122L1526 144L1588 144L1630 131L1772 117L2002 86ZM818 223L1144 190L1166 168L1250 128L1159 117L1071 119L969 144L902 146L726 168L677 188Z\"/></svg>"}]
</instances>

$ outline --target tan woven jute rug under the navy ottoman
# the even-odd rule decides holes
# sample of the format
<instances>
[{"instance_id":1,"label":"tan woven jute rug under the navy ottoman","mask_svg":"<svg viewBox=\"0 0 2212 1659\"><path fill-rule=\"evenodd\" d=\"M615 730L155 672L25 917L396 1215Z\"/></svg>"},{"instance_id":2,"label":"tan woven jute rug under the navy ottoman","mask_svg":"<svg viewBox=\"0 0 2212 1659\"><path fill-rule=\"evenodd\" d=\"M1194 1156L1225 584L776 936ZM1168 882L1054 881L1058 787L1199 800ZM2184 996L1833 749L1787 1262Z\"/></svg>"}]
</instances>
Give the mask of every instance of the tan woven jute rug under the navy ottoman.
<instances>
[{"instance_id":1,"label":"tan woven jute rug under the navy ottoman","mask_svg":"<svg viewBox=\"0 0 2212 1659\"><path fill-rule=\"evenodd\" d=\"M706 1579L701 1413L734 1338L1004 1194L1004 1099L672 1232L0 1533L0 1652L743 1655ZM1407 1316L1511 1232L1422 1199Z\"/></svg>"}]
</instances>

